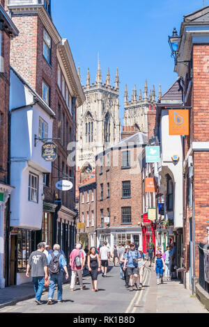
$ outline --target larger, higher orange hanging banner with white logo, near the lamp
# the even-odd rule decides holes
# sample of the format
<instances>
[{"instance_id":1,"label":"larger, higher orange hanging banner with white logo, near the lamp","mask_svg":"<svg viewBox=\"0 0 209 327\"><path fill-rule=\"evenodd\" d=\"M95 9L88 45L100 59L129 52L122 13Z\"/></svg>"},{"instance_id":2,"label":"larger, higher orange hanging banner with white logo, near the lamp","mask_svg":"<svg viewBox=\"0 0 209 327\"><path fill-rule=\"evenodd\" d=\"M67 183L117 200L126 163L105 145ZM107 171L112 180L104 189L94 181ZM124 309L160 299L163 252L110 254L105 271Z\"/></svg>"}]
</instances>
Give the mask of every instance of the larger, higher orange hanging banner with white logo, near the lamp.
<instances>
[{"instance_id":1,"label":"larger, higher orange hanging banner with white logo, near the lamp","mask_svg":"<svg viewBox=\"0 0 209 327\"><path fill-rule=\"evenodd\" d=\"M189 135L189 110L169 110L169 135Z\"/></svg>"}]
</instances>

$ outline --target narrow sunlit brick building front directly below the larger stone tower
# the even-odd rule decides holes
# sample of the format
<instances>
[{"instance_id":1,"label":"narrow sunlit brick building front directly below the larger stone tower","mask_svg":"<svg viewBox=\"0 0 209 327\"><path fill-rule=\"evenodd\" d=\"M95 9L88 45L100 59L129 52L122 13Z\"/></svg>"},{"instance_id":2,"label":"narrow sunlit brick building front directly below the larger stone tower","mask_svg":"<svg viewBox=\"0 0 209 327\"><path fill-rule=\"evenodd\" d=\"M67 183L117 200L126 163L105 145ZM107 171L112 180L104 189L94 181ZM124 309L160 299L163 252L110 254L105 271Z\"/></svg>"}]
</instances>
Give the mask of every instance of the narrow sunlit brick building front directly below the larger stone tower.
<instances>
[{"instance_id":1,"label":"narrow sunlit brick building front directly below the larger stone tower","mask_svg":"<svg viewBox=\"0 0 209 327\"><path fill-rule=\"evenodd\" d=\"M79 186L79 223L84 228L77 230L77 239L83 244L83 248L96 246L96 183L95 175L86 178Z\"/></svg>"}]
</instances>

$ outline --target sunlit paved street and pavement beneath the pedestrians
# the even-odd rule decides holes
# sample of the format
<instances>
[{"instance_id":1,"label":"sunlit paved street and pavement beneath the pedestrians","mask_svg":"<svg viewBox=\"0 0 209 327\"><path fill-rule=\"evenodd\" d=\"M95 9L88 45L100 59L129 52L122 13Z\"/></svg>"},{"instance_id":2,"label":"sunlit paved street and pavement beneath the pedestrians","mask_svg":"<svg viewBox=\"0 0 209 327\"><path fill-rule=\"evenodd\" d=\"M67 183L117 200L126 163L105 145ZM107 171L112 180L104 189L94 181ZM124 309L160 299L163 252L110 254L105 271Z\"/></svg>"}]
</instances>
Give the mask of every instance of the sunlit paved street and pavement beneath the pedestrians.
<instances>
[{"instance_id":1,"label":"sunlit paved street and pavement beneath the pedestrians","mask_svg":"<svg viewBox=\"0 0 209 327\"><path fill-rule=\"evenodd\" d=\"M84 291L77 285L75 292L70 292L69 284L63 285L64 303L54 301L53 305L36 305L31 298L2 308L0 313L208 313L178 280L157 287L155 273L149 268L146 269L144 289L141 291L128 292L119 278L119 267L113 266L109 267L107 278L99 276L98 293L91 291L89 276L84 278L84 285ZM47 303L47 293L43 294L42 301Z\"/></svg>"}]
</instances>

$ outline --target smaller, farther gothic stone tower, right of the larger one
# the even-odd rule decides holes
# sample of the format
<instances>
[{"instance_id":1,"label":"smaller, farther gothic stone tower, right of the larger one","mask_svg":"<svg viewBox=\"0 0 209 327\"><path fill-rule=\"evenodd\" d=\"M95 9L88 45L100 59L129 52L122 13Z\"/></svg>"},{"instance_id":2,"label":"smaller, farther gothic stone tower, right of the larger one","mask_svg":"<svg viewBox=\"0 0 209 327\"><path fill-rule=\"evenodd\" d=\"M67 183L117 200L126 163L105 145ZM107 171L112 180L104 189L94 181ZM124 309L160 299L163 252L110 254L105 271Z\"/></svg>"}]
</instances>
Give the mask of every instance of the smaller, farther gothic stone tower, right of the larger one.
<instances>
[{"instance_id":1,"label":"smaller, farther gothic stone tower, right of the larger one","mask_svg":"<svg viewBox=\"0 0 209 327\"><path fill-rule=\"evenodd\" d=\"M160 86L159 97L161 95ZM127 85L125 86L125 113L123 116L122 138L127 138L139 131L145 134L148 133L149 116L151 116L151 113L155 113L155 104L155 86L153 86L153 90L150 90L150 94L148 95L147 81L145 81L144 98L142 97L141 90L139 91L139 97L137 97L137 87L135 86L132 91L132 98L128 101Z\"/></svg>"}]
</instances>

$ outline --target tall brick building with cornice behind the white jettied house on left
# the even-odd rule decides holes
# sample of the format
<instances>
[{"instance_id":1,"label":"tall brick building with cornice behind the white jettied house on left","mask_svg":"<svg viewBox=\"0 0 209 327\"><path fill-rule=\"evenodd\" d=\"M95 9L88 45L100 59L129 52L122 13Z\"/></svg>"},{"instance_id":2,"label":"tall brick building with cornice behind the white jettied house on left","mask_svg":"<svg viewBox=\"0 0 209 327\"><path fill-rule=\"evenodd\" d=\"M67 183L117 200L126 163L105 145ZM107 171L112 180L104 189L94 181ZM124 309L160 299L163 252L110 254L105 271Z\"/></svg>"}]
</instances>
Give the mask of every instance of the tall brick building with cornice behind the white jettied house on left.
<instances>
[{"instance_id":1,"label":"tall brick building with cornice behind the white jettied house on left","mask_svg":"<svg viewBox=\"0 0 209 327\"><path fill-rule=\"evenodd\" d=\"M52 138L57 145L57 158L52 163L52 173L43 174L42 225L36 231L34 246L42 240L51 246L58 242L68 256L75 243L77 216L75 158L72 155L75 145L69 143L76 139L75 117L85 96L68 40L61 38L52 22L51 1L7 2L13 22L20 31L20 39L11 43L11 65L56 114ZM43 121L33 135L33 141L43 144L44 140L47 140L47 125ZM59 191L55 185L60 180L69 180L73 188ZM12 233L16 234L20 248L21 244L28 244L26 237L30 233L24 233L24 226L14 226Z\"/></svg>"}]
</instances>

